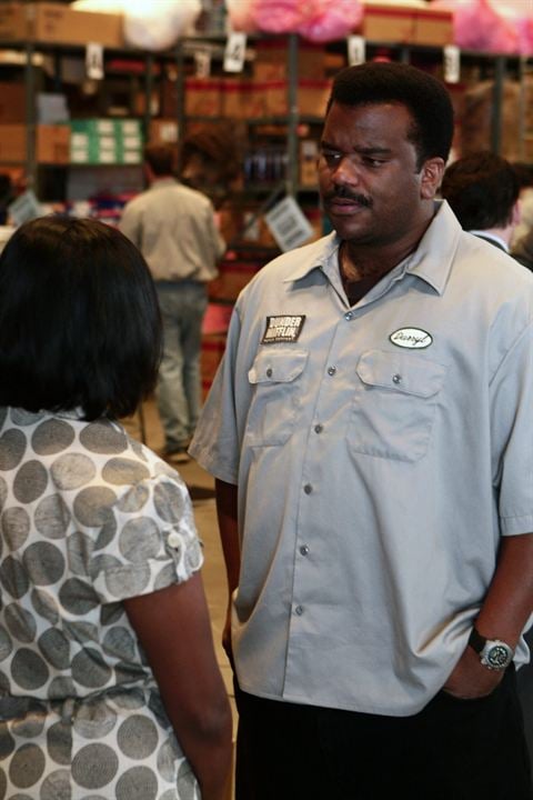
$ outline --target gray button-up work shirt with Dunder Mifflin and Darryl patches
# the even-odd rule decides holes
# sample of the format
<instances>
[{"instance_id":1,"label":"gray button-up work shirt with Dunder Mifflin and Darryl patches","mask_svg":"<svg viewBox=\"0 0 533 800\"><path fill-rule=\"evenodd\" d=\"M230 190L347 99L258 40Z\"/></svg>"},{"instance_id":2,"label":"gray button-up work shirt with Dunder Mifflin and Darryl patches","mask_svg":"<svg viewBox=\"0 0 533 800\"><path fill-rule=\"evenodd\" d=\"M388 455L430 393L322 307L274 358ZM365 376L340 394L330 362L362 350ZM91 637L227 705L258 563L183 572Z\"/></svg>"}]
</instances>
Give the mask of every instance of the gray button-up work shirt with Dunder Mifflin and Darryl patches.
<instances>
[{"instance_id":1,"label":"gray button-up work shirt with Dunder Mifflin and Darryl patches","mask_svg":"<svg viewBox=\"0 0 533 800\"><path fill-rule=\"evenodd\" d=\"M338 249L241 293L191 452L239 484L241 688L406 716L459 660L500 537L533 531L533 276L446 203L353 308Z\"/></svg>"}]
</instances>

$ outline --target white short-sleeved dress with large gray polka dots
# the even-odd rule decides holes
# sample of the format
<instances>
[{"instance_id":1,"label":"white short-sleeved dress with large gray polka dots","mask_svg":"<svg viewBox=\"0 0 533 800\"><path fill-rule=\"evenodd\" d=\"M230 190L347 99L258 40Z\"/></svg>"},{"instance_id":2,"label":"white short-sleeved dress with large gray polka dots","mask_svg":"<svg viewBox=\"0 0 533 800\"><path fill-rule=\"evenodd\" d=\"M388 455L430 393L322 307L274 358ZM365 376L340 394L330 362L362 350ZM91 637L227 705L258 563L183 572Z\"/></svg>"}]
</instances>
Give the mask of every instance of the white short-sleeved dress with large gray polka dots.
<instances>
[{"instance_id":1,"label":"white short-sleeved dress with large gray polka dots","mask_svg":"<svg viewBox=\"0 0 533 800\"><path fill-rule=\"evenodd\" d=\"M199 800L121 601L201 563L183 482L120 426L0 408L0 800Z\"/></svg>"}]
</instances>

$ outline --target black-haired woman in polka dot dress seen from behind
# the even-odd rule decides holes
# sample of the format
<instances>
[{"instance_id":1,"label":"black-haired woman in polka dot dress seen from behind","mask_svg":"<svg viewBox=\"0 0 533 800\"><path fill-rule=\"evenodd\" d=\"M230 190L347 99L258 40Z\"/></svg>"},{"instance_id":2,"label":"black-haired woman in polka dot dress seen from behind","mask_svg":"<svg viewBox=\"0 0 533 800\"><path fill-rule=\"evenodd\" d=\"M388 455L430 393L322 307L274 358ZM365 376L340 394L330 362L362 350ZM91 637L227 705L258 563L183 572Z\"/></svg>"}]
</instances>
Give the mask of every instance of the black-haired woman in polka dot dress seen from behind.
<instances>
[{"instance_id":1,"label":"black-haired woman in polka dot dress seen from behind","mask_svg":"<svg viewBox=\"0 0 533 800\"><path fill-rule=\"evenodd\" d=\"M94 220L0 257L0 798L221 800L231 711L178 473L117 419L154 386L157 296Z\"/></svg>"}]
</instances>

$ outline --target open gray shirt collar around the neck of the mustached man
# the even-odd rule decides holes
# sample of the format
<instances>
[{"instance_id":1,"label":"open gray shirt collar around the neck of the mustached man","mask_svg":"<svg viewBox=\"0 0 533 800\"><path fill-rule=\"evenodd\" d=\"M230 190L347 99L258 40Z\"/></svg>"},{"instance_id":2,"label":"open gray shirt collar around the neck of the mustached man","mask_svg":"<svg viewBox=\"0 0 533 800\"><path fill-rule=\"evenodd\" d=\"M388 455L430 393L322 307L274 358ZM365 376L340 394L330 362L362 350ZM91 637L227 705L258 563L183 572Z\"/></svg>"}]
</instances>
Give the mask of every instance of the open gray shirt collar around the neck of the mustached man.
<instances>
[{"instance_id":1,"label":"open gray shirt collar around the neck of the mustached man","mask_svg":"<svg viewBox=\"0 0 533 800\"><path fill-rule=\"evenodd\" d=\"M445 200L435 200L435 216L416 250L392 270L394 277L413 274L442 294L450 274L462 228ZM301 280L314 269L322 269L332 280L339 272L338 252L341 239L329 233L308 246L308 252L289 267L284 282ZM294 251L296 252L296 251ZM390 276L392 274L389 273ZM399 276L401 273L401 276Z\"/></svg>"}]
</instances>

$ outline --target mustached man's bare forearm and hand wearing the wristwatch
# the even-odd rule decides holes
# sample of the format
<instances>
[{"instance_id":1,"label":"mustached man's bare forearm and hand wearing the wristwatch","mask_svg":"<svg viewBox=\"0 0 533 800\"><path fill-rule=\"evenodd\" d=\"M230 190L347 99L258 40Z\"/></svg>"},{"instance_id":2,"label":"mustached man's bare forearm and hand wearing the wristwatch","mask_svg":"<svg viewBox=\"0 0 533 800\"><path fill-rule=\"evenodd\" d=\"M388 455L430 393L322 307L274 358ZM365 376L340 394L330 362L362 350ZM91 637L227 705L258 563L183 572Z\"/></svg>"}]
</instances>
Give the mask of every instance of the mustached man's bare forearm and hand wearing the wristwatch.
<instances>
[{"instance_id":1,"label":"mustached man's bare forearm and hand wearing the wristwatch","mask_svg":"<svg viewBox=\"0 0 533 800\"><path fill-rule=\"evenodd\" d=\"M502 537L496 571L475 627L487 639L503 639L514 648L532 611L533 533ZM482 697L501 679L501 672L483 667L466 647L444 688L457 697Z\"/></svg>"}]
</instances>

